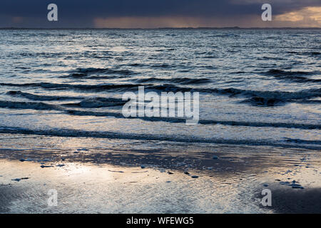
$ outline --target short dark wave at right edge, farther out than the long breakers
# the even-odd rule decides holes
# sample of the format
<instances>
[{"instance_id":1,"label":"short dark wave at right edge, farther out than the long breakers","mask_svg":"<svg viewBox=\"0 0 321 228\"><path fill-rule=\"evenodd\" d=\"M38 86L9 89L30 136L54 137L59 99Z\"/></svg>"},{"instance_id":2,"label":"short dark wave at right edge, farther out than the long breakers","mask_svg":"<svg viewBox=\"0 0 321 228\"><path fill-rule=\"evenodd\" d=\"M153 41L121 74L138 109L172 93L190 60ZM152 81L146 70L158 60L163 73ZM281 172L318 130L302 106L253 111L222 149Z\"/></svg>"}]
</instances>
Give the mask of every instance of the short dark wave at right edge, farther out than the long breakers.
<instances>
[{"instance_id":1,"label":"short dark wave at right edge, farther out than the long breakers","mask_svg":"<svg viewBox=\"0 0 321 228\"><path fill-rule=\"evenodd\" d=\"M319 72L282 71L282 70L278 70L278 69L272 69L270 71L267 71L265 74L267 74L268 76L273 76L278 79L290 80L290 81L295 81L295 82L299 82L299 83L307 83L307 82L320 83L321 79L304 77L304 76L315 75L316 73L319 73Z\"/></svg>"}]
</instances>

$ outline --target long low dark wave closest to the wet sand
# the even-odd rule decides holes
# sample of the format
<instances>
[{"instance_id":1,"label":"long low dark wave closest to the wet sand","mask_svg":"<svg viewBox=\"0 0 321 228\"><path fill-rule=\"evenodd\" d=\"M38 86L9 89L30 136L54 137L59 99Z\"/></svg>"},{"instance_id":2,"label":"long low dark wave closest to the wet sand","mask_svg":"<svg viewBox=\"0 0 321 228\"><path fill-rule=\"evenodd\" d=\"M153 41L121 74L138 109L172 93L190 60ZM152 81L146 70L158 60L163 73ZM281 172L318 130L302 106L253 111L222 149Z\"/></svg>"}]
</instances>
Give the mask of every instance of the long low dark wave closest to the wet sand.
<instances>
[{"instance_id":1,"label":"long low dark wave closest to the wet sand","mask_svg":"<svg viewBox=\"0 0 321 228\"><path fill-rule=\"evenodd\" d=\"M187 143L215 143L229 145L265 145L277 147L295 147L295 148L310 148L320 150L319 145L300 145L300 144L285 144L282 142L272 142L267 140L224 140L224 139L208 139L197 137L180 137L176 135L148 135L135 133L117 133L109 131L88 131L88 130L73 130L73 129L49 129L49 130L31 130L27 128L8 128L0 126L2 134L19 134L19 135L45 135L56 137L73 137L73 138L108 138L121 140L149 140L149 141L168 141L168 142L187 142Z\"/></svg>"}]
</instances>

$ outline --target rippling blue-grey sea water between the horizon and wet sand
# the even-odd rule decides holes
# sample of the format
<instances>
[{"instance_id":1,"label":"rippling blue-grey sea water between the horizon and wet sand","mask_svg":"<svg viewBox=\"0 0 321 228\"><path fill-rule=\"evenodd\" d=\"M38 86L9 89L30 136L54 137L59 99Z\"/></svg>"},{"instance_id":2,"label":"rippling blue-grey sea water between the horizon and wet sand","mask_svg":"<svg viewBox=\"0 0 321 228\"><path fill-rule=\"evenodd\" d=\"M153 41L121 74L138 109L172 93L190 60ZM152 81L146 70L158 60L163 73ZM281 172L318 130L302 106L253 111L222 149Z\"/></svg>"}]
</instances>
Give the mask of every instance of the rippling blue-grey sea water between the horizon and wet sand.
<instances>
[{"instance_id":1,"label":"rippling blue-grey sea water between the horizon and wet sand","mask_svg":"<svg viewBox=\"0 0 321 228\"><path fill-rule=\"evenodd\" d=\"M320 29L1 30L0 147L320 150L320 49ZM124 118L138 86L198 91L198 125Z\"/></svg>"}]
</instances>

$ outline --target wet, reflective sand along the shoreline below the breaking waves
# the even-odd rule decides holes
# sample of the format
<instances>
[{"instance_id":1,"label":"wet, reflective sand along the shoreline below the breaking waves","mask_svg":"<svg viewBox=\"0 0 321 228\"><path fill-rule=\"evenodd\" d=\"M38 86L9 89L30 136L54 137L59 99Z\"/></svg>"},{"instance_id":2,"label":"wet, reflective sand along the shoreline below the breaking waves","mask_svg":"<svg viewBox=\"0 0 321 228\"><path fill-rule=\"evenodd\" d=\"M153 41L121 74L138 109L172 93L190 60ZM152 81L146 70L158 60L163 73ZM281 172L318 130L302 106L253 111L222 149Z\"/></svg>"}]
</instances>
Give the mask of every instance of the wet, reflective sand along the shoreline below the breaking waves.
<instances>
[{"instance_id":1,"label":"wet, reflective sand along the shoreline below the breaking waves","mask_svg":"<svg viewBox=\"0 0 321 228\"><path fill-rule=\"evenodd\" d=\"M317 152L235 148L189 157L144 150L0 150L0 212L321 212ZM58 205L49 207L53 189ZM263 189L272 191L272 207L262 206Z\"/></svg>"}]
</instances>

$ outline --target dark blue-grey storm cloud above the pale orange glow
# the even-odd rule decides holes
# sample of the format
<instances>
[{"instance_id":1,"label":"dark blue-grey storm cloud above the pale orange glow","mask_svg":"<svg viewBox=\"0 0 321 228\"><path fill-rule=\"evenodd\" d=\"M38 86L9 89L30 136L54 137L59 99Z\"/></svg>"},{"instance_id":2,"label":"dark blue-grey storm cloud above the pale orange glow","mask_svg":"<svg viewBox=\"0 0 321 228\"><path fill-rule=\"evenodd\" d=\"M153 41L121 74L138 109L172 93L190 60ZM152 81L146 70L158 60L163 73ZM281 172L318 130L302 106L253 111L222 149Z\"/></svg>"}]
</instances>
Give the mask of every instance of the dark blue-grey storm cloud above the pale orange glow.
<instances>
[{"instance_id":1,"label":"dark blue-grey storm cloud above the pale orange glow","mask_svg":"<svg viewBox=\"0 0 321 228\"><path fill-rule=\"evenodd\" d=\"M263 3L272 4L273 14L321 6L320 0L1 0L0 26L14 26L14 21L24 26L48 24L46 6L58 5L59 26L91 26L95 18L122 16L185 16L230 17L258 15ZM14 19L15 20L14 20Z\"/></svg>"}]
</instances>

